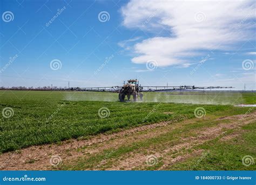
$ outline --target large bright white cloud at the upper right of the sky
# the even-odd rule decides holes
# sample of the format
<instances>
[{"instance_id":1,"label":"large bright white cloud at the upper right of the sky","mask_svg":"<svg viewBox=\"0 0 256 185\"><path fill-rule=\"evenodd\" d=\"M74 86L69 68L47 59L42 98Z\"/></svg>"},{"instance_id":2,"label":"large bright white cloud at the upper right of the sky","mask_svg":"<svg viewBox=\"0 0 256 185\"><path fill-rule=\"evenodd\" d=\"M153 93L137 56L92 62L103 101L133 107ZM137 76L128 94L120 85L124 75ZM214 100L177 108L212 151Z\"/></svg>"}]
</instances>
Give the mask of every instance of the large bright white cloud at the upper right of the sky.
<instances>
[{"instance_id":1,"label":"large bright white cloud at the upper right of the sky","mask_svg":"<svg viewBox=\"0 0 256 185\"><path fill-rule=\"evenodd\" d=\"M254 1L132 0L121 9L123 25L156 33L134 45L132 61L142 64L153 59L159 66L184 65L199 51L225 52L254 38L254 5ZM157 36L163 28L170 32L169 37Z\"/></svg>"}]
</instances>

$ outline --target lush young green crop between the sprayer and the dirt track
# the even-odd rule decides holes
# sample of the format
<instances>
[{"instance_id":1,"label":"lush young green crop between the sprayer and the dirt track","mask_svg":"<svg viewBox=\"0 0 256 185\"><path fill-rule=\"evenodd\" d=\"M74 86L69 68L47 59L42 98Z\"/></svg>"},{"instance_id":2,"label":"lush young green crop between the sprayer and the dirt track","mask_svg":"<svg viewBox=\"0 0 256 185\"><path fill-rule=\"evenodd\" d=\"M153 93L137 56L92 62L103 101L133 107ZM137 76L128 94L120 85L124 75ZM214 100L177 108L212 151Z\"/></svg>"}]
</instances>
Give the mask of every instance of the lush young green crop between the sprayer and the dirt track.
<instances>
[{"instance_id":1,"label":"lush young green crop between the sprayer and the dirt track","mask_svg":"<svg viewBox=\"0 0 256 185\"><path fill-rule=\"evenodd\" d=\"M197 107L203 107L206 115L225 114L227 111L228 114L238 114L248 109L232 105L121 103L117 101L117 95L96 92L0 91L2 113L6 107L13 111L11 117L2 116L0 119L0 152L116 132L153 122L190 119L194 118L194 109ZM144 95L145 101L150 101L152 96L150 93ZM166 95L159 93L159 96L159 100L161 96L165 100ZM180 98L183 97L180 95ZM100 99L105 101L89 101ZM102 108L103 112L99 112Z\"/></svg>"}]
</instances>

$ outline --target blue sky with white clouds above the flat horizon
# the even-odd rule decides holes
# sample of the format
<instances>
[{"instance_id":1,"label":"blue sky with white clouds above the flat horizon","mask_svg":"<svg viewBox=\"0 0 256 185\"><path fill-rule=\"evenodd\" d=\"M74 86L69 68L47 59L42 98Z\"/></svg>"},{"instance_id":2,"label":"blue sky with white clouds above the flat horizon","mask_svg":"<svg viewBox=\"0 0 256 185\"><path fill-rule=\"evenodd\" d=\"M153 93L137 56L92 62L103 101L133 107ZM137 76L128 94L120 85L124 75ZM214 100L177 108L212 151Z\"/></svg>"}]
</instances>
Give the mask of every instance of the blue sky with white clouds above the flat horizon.
<instances>
[{"instance_id":1,"label":"blue sky with white clouds above the flat horizon","mask_svg":"<svg viewBox=\"0 0 256 185\"><path fill-rule=\"evenodd\" d=\"M255 3L222 3L1 1L0 86L255 90Z\"/></svg>"}]
</instances>

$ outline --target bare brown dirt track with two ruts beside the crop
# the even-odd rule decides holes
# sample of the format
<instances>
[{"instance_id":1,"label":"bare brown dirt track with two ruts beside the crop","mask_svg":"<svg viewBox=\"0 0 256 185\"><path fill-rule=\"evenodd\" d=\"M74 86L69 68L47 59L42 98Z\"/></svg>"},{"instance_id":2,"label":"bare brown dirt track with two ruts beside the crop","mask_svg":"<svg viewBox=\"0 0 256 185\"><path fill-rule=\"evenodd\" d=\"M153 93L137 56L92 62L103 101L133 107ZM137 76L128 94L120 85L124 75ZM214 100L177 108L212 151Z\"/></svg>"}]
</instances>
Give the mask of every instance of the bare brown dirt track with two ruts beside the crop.
<instances>
[{"instance_id":1,"label":"bare brown dirt track with two ruts beside the crop","mask_svg":"<svg viewBox=\"0 0 256 185\"><path fill-rule=\"evenodd\" d=\"M204 118L206 119L206 118ZM144 141L150 138L169 133L177 128L181 128L188 124L193 124L198 119L186 120L183 122L172 123L160 122L158 124L146 125L137 128L132 128L126 131L104 135L100 134L93 136L89 140L69 140L60 143L59 145L43 145L32 146L19 150L17 152L4 153L0 156L1 170L49 170L52 169L50 159L53 155L58 155L62 159L63 164L73 163L78 157L89 157L102 153L105 149L119 148L120 146L129 145L134 142ZM215 119L216 120L216 119ZM242 121L241 121L242 120ZM156 147L147 148L155 157L163 157L164 165L159 169L165 169L167 166L177 161L185 160L192 155L199 155L200 150L195 150L190 155L183 154L184 148L192 148L206 141L217 138L225 133L224 129L239 128L242 125L256 121L256 112L248 115L235 115L218 119L219 124L214 127L203 127L200 131L194 131L196 136L189 138L180 138L177 145L166 147L164 150L158 150ZM231 139L239 133L224 136L224 140ZM161 144L159 144L161 145ZM85 148L86 147L86 148ZM172 156L175 152L178 156ZM168 154L168 155L167 155ZM171 154L171 155L170 155ZM107 170L119 169L136 169L145 166L146 157L143 151L137 153L126 153L121 158L115 159L112 167ZM1 168L2 167L2 168ZM93 169L100 169L95 167Z\"/></svg>"}]
</instances>

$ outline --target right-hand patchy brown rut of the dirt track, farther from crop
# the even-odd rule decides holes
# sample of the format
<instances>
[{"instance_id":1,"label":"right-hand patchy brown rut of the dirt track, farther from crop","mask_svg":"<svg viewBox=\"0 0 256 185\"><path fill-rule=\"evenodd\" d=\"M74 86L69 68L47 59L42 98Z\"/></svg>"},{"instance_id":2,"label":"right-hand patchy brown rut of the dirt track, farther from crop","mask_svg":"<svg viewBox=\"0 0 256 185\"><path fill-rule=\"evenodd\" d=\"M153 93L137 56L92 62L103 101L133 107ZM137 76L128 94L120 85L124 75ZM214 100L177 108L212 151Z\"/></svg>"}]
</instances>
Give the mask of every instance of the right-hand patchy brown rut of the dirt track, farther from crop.
<instances>
[{"instance_id":1,"label":"right-hand patchy brown rut of the dirt track, farther from crop","mask_svg":"<svg viewBox=\"0 0 256 185\"><path fill-rule=\"evenodd\" d=\"M158 151L158 150L154 150L154 149L147 149L148 152L150 152L150 155L154 155L157 158L162 157L163 160L161 160L161 162L164 163L163 166L161 166L158 170L164 170L167 168L167 166L172 165L175 162L179 162L179 161L183 161L185 159L187 159L188 157L191 156L196 156L198 154L200 154L201 152L198 150L194 150L191 154L185 154L182 155L181 150L183 148L187 149L191 149L194 146L203 144L206 141L210 141L212 139L217 138L218 136L220 136L221 134L224 134L226 131L223 131L223 129L234 129L234 128L239 128L240 126L243 125L247 125L250 124L251 122L255 122L256 121L256 112L253 112L251 114L248 115L234 115L231 117L225 117L222 119L218 119L218 120L231 120L230 123L220 123L217 126L214 127L210 127L210 128L206 128L203 129L203 131L198 131L196 132L197 136L196 137L190 137L190 138L185 138L185 139L181 139L181 143L173 146L173 147L168 147L163 151ZM225 136L225 139L232 139L232 137L235 136L235 134L231 134L232 136L228 137ZM179 156L174 157L173 155L168 155L168 154L172 154L175 153L175 155L177 155L177 152L180 153ZM154 154L152 154L154 153ZM111 168L107 168L105 170L132 170L134 168L136 169L145 169L146 167L149 167L146 165L146 160L147 160L147 155L145 156L145 154L142 153L137 153L137 154L133 154L132 152L129 154L125 154L125 157L123 156L122 158L125 158L125 160L118 160L118 162L116 162L118 165L117 166L113 166Z\"/></svg>"}]
</instances>

